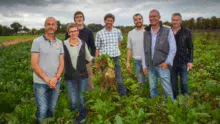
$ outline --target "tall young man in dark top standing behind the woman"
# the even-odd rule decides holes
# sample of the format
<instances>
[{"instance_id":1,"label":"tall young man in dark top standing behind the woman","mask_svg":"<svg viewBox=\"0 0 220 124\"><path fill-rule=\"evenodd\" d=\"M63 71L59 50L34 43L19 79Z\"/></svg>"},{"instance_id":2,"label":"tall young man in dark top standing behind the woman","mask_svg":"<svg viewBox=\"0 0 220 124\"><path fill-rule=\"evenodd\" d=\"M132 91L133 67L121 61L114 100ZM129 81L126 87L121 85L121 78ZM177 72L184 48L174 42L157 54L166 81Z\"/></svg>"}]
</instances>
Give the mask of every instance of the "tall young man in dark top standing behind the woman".
<instances>
[{"instance_id":1,"label":"tall young man in dark top standing behind the woman","mask_svg":"<svg viewBox=\"0 0 220 124\"><path fill-rule=\"evenodd\" d=\"M87 44L88 48L90 49L90 54L92 56L95 56L96 47L95 47L94 35L90 29L85 27L84 21L85 21L85 17L84 17L83 12L77 11L74 13L74 22L76 23L79 29L79 38ZM66 33L65 40L68 39L69 37L70 36L68 35L68 33ZM87 73L89 76L88 90L91 91L94 88L93 83L92 83L92 75L93 75L92 63L88 63L86 67L87 67Z\"/></svg>"}]
</instances>

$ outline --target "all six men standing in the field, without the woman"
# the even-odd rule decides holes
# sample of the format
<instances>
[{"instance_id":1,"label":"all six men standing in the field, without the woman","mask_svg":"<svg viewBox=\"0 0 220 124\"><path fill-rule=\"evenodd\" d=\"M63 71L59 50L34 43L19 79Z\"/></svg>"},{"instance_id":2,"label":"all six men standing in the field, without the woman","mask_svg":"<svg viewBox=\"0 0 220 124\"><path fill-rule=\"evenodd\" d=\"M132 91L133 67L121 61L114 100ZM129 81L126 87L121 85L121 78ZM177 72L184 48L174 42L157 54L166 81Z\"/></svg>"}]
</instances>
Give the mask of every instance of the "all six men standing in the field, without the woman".
<instances>
[{"instance_id":1,"label":"all six men standing in the field, without the woman","mask_svg":"<svg viewBox=\"0 0 220 124\"><path fill-rule=\"evenodd\" d=\"M128 33L126 68L131 70L131 56L137 80L146 82L148 74L150 96L158 96L158 78L164 92L172 100L177 98L178 75L181 80L181 93L188 93L187 74L192 69L193 44L191 32L181 26L182 17L179 13L172 15L172 27L167 27L160 21L160 13L151 10L150 25L143 25L143 17L137 13L133 16L135 28ZM84 25L85 17L81 11L74 14L74 22L79 29L79 38L87 43L92 56L107 54L115 63L116 82L121 95L126 95L126 87L122 79L120 66L120 45L123 39L119 29L114 28L115 16L107 14L104 17L105 27L98 31L96 39L90 29ZM52 117L59 96L60 76L64 68L64 51L62 42L55 38L57 30L55 18L45 21L45 34L34 40L31 48L31 64L34 70L34 91L37 103L37 119ZM66 34L65 39L69 38ZM89 75L88 89L91 91L92 65L87 64Z\"/></svg>"}]
</instances>

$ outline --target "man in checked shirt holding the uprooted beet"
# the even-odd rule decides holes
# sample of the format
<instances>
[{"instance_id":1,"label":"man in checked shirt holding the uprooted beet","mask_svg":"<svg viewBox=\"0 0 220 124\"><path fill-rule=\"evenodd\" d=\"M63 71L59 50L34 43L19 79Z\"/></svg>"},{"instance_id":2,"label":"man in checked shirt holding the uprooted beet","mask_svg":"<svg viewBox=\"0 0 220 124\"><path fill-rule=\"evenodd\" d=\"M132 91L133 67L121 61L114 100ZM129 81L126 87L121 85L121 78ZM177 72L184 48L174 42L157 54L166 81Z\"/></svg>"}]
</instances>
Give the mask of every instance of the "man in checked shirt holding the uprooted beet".
<instances>
[{"instance_id":1,"label":"man in checked shirt holding the uprooted beet","mask_svg":"<svg viewBox=\"0 0 220 124\"><path fill-rule=\"evenodd\" d=\"M121 95L126 95L126 88L122 81L120 58L121 55L119 46L123 39L121 31L113 28L115 16L112 14L106 14L104 17L105 27L98 31L96 34L95 46L96 53L95 57L99 55L107 54L115 63L115 77L118 84L118 92Z\"/></svg>"}]
</instances>

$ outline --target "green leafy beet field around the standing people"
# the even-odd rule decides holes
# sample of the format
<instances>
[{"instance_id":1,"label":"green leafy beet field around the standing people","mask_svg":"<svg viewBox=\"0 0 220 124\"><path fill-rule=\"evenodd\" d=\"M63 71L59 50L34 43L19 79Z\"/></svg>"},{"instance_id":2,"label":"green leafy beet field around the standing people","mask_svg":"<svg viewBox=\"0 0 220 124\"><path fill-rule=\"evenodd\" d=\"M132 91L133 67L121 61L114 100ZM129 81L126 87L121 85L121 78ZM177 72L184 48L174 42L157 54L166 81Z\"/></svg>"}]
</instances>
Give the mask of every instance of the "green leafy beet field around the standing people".
<instances>
[{"instance_id":1,"label":"green leafy beet field around the standing people","mask_svg":"<svg viewBox=\"0 0 220 124\"><path fill-rule=\"evenodd\" d=\"M220 36L194 33L194 68L189 72L189 96L164 102L164 96L149 97L148 81L139 86L133 72L126 70L126 38L121 47L123 80L128 96L120 96L112 86L106 89L102 72L96 70L95 89L84 93L88 124L219 124L220 123ZM63 37L61 37L62 39ZM0 48L0 124L36 123L36 103L30 67L31 43ZM109 58L103 56L105 60ZM102 60L100 60L103 63ZM110 63L110 62L109 62ZM111 67L109 64L109 68ZM147 76L146 76L147 78ZM113 82L114 83L114 82ZM159 92L163 90L159 85ZM62 81L55 116L47 124L75 123L70 111L67 87ZM76 112L78 113L78 112Z\"/></svg>"}]
</instances>

